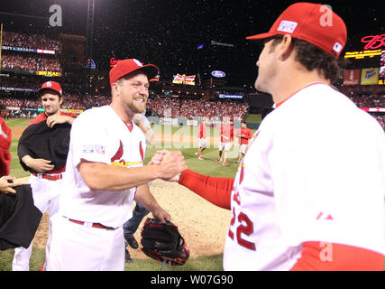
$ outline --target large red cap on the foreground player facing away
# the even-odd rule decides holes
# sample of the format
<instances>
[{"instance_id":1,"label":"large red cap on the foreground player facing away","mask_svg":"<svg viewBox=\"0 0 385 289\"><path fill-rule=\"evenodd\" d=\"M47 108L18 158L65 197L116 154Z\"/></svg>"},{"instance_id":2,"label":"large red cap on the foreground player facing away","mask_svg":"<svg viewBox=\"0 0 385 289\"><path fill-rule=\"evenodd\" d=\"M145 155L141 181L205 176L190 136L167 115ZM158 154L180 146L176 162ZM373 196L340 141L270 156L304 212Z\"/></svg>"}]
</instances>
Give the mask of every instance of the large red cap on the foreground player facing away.
<instances>
[{"instance_id":1,"label":"large red cap on the foreground player facing away","mask_svg":"<svg viewBox=\"0 0 385 289\"><path fill-rule=\"evenodd\" d=\"M335 58L343 51L347 39L344 20L330 6L314 3L289 5L268 33L252 35L246 39L264 39L279 34L290 34L293 38L312 43Z\"/></svg>"}]
</instances>

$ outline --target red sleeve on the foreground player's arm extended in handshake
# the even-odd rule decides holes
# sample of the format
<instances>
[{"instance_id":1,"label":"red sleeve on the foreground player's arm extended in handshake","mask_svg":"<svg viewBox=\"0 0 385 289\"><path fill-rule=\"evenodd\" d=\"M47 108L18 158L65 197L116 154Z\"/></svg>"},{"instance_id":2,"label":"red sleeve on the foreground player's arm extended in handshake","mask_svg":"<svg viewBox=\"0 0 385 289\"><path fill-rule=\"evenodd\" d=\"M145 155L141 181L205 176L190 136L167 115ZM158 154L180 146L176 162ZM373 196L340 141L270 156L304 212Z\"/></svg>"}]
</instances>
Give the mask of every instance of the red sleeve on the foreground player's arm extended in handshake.
<instances>
[{"instance_id":1,"label":"red sleeve on the foreground player's arm extended in handshake","mask_svg":"<svg viewBox=\"0 0 385 289\"><path fill-rule=\"evenodd\" d=\"M231 191L234 179L210 177L185 170L180 175L179 183L215 206L231 209Z\"/></svg>"}]
</instances>

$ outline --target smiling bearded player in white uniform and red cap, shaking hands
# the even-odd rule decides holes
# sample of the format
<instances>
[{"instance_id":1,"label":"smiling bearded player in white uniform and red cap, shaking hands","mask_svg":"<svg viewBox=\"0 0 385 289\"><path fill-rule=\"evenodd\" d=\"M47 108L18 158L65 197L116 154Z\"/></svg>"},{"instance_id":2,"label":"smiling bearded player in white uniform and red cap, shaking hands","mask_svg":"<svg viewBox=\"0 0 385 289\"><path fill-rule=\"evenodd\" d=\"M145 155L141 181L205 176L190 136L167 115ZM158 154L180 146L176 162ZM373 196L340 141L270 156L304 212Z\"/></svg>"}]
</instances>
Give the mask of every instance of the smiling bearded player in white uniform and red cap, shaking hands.
<instances>
[{"instance_id":1,"label":"smiling bearded player in white uniform and red cap, shaking hands","mask_svg":"<svg viewBox=\"0 0 385 289\"><path fill-rule=\"evenodd\" d=\"M160 165L143 165L145 137L133 124L149 96L152 64L129 59L110 70L112 102L92 108L73 123L60 211L53 219L48 270L124 270L123 225L139 200L166 221L147 182L170 179L186 169L180 152Z\"/></svg>"}]
</instances>

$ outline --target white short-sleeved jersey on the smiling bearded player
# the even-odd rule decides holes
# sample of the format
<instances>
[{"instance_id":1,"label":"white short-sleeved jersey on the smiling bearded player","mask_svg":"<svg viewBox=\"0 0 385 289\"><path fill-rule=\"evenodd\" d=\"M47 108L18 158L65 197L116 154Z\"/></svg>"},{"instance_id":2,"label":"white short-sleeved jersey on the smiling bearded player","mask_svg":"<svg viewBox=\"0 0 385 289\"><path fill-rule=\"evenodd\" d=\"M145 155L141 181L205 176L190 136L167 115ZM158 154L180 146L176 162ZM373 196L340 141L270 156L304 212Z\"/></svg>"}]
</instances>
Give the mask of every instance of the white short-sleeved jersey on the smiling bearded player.
<instances>
[{"instance_id":1,"label":"white short-sleeved jersey on the smiling bearded player","mask_svg":"<svg viewBox=\"0 0 385 289\"><path fill-rule=\"evenodd\" d=\"M127 169L143 165L146 141L141 129L130 132L110 106L92 108L74 121L71 129L60 214L69 219L118 228L132 217L136 188L91 191L78 172L81 159Z\"/></svg>"}]
</instances>

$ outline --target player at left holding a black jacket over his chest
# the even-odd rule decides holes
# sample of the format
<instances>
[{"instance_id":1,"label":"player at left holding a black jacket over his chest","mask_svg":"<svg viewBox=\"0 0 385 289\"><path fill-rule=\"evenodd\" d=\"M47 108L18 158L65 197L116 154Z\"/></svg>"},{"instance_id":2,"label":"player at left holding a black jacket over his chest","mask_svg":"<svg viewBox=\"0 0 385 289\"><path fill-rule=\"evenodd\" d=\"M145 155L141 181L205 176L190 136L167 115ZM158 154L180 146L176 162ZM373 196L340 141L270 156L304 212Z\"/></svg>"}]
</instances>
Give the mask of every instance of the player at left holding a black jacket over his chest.
<instances>
[{"instance_id":1,"label":"player at left holding a black jacket over his chest","mask_svg":"<svg viewBox=\"0 0 385 289\"><path fill-rule=\"evenodd\" d=\"M23 131L17 151L24 170L32 172L30 183L35 206L41 213L44 214L48 210L50 214L50 231L51 219L58 211L60 188L69 149L69 130L74 117L60 111L63 92L58 82L44 82L38 93L44 112L32 119ZM60 124L67 125L60 126ZM60 160L57 157L60 157ZM28 271L31 254L32 244L28 248L15 248L13 270ZM50 232L45 254L47 260L50 254Z\"/></svg>"}]
</instances>

